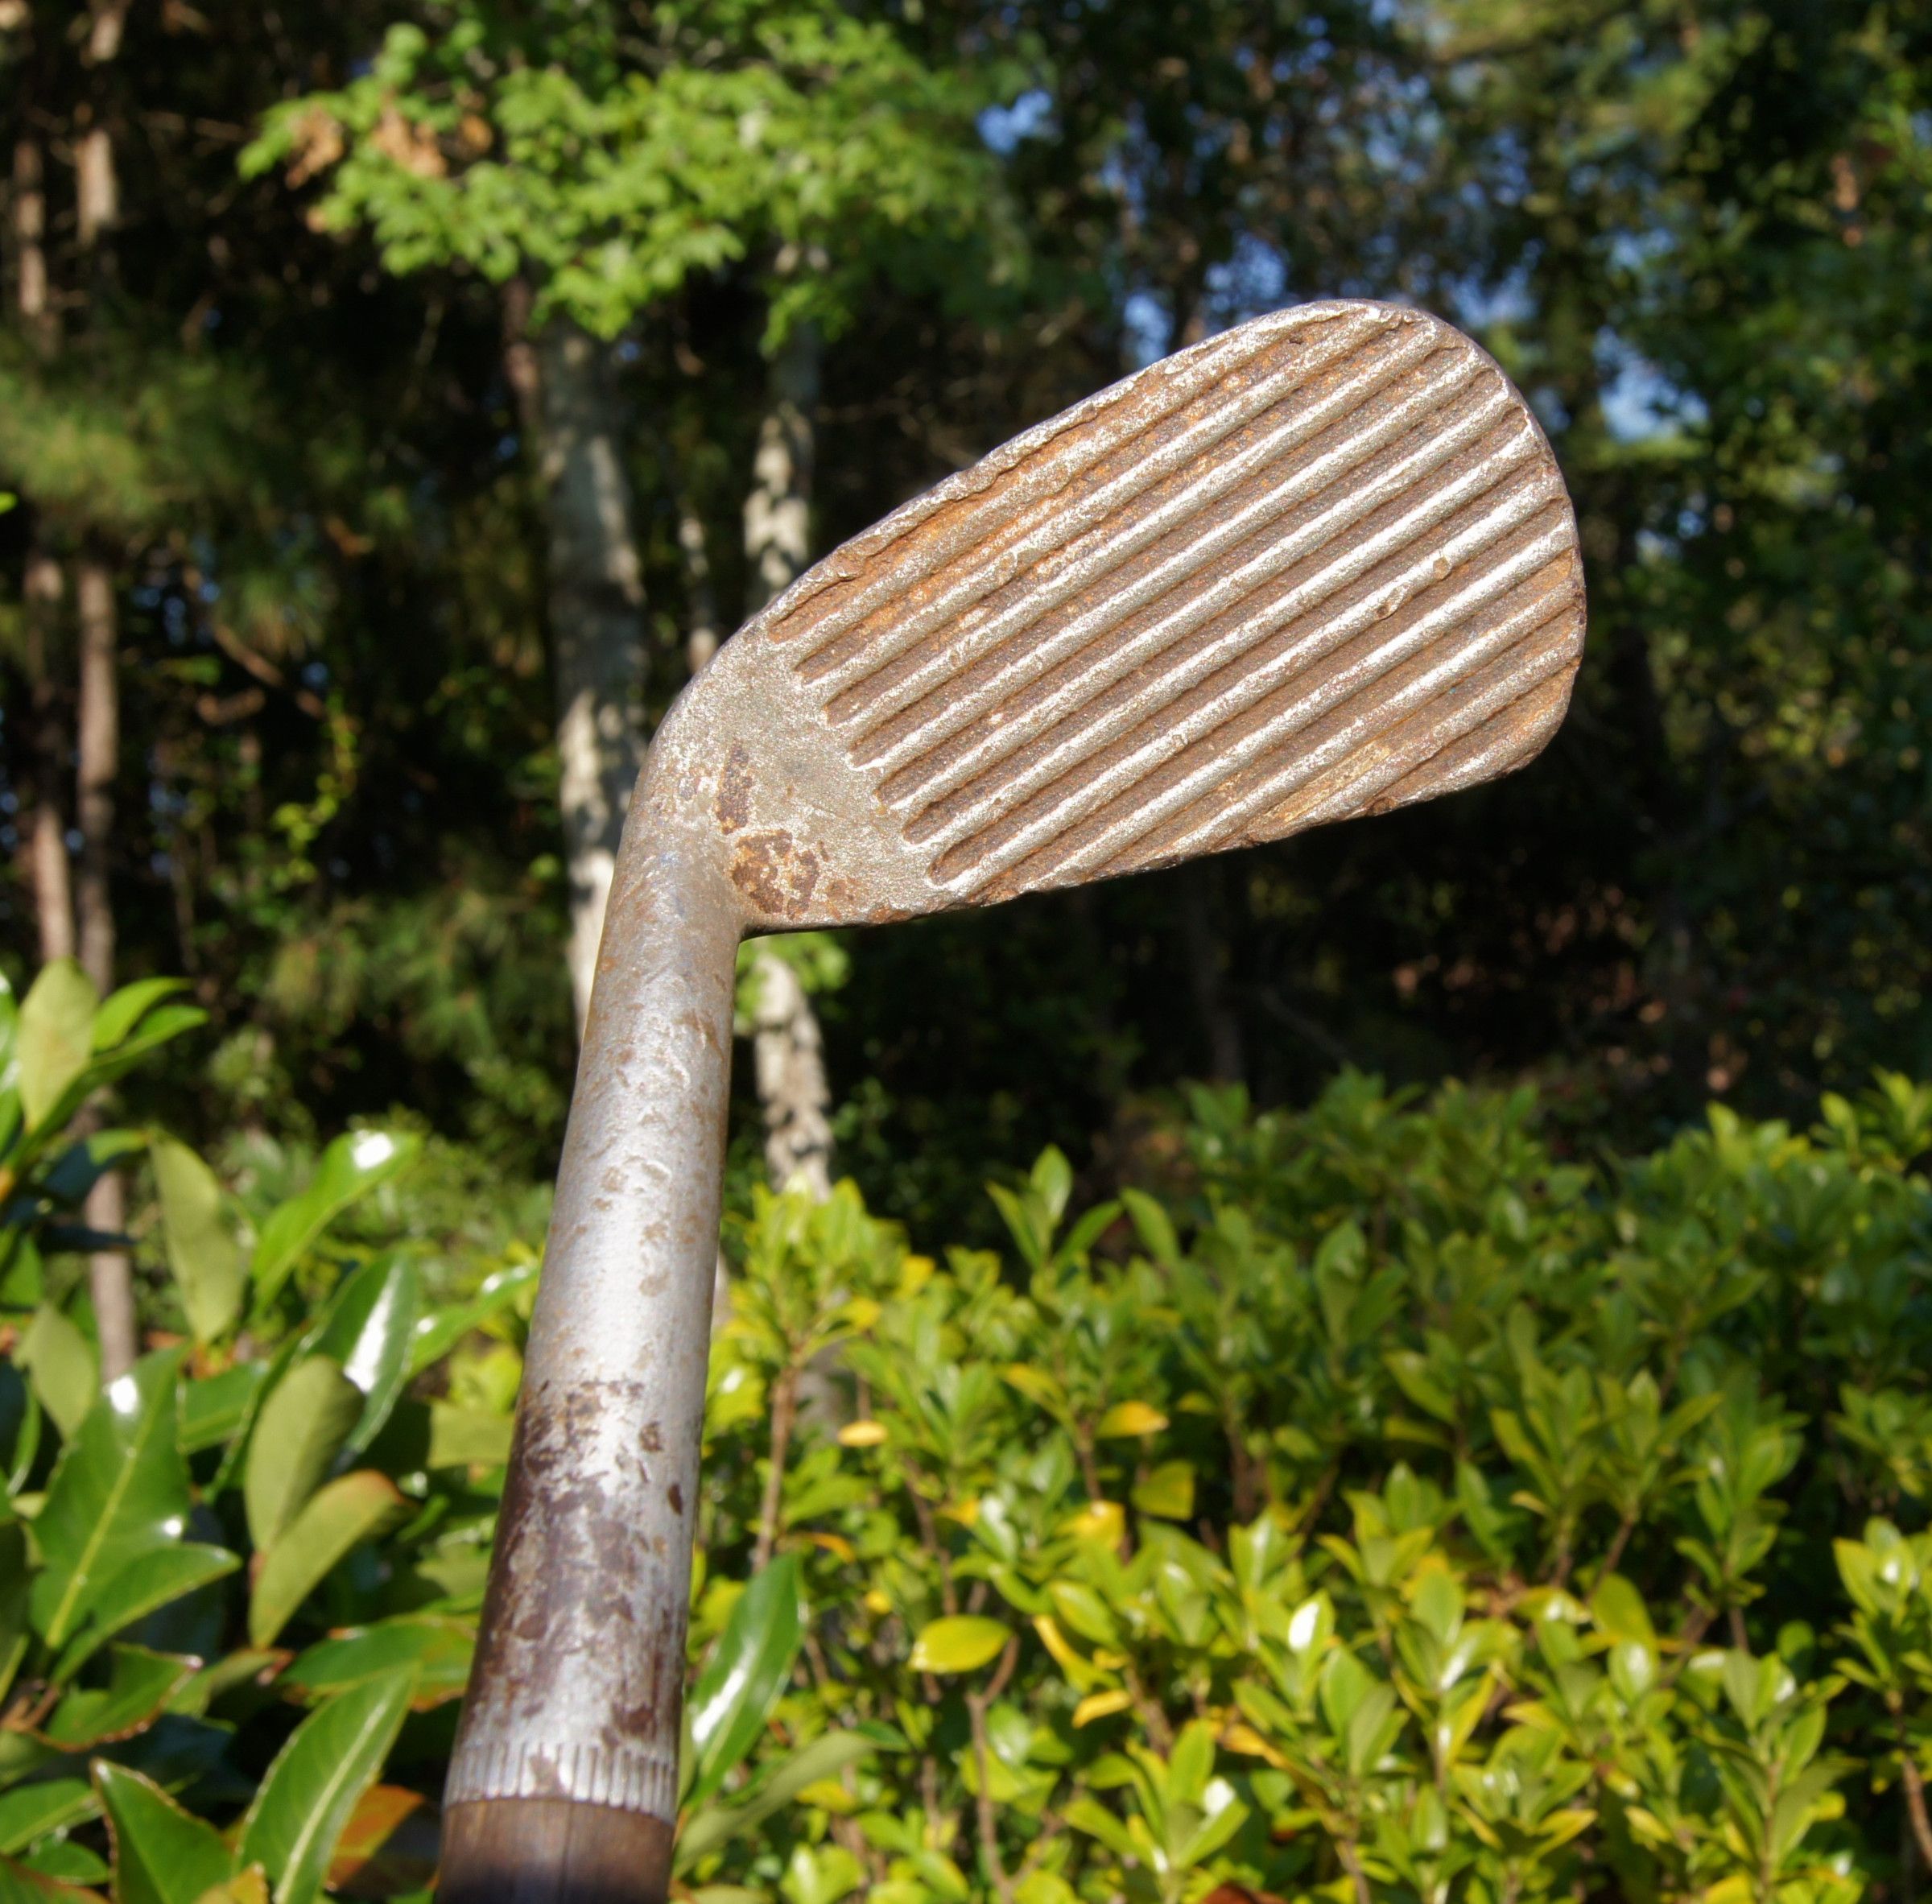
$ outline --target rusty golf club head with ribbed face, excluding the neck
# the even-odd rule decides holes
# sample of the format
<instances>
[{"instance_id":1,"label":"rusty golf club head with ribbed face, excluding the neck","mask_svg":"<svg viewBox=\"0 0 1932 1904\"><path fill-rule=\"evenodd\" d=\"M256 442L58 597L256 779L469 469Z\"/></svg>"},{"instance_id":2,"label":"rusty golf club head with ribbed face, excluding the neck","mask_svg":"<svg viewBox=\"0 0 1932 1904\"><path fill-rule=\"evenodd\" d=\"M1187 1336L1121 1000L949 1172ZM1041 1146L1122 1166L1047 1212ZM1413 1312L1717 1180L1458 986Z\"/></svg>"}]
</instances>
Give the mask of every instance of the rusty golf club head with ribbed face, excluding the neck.
<instances>
[{"instance_id":1,"label":"rusty golf club head with ribbed face, excluding the neck","mask_svg":"<svg viewBox=\"0 0 1932 1904\"><path fill-rule=\"evenodd\" d=\"M748 930L991 905L1493 779L1563 719L1577 524L1522 396L1383 303L1258 317L833 551L659 735Z\"/></svg>"}]
</instances>

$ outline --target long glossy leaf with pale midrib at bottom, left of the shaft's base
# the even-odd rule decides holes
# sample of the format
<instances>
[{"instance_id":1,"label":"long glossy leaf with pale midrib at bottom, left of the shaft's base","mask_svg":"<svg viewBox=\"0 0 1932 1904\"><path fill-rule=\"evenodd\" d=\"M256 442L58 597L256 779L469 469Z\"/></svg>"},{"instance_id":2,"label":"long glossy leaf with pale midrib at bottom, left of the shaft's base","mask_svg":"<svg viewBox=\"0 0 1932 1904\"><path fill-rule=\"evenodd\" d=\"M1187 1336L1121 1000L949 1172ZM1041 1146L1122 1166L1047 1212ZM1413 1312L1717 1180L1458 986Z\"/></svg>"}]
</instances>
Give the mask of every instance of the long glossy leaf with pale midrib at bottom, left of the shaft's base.
<instances>
[{"instance_id":1,"label":"long glossy leaf with pale midrib at bottom, left of the shaft's base","mask_svg":"<svg viewBox=\"0 0 1932 1904\"><path fill-rule=\"evenodd\" d=\"M375 1784L415 1691L410 1672L355 1686L311 1713L276 1753L242 1825L276 1904L313 1904L355 1800Z\"/></svg>"}]
</instances>

